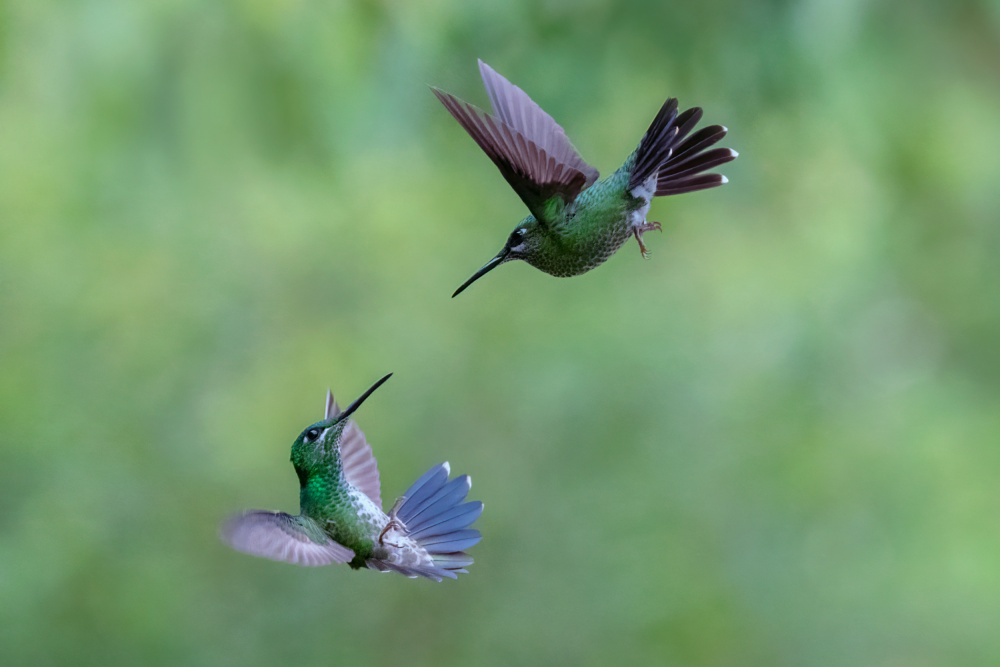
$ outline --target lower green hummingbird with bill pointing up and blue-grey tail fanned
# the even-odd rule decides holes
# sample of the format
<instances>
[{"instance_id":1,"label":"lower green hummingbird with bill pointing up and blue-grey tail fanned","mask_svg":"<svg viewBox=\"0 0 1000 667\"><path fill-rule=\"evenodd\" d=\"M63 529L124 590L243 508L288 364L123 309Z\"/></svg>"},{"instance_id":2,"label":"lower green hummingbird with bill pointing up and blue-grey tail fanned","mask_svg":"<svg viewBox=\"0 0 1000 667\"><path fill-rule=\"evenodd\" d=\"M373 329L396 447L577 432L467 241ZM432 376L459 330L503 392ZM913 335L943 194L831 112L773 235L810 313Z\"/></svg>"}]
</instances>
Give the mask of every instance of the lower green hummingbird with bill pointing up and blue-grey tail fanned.
<instances>
[{"instance_id":1,"label":"lower green hummingbird with bill pointing up and blue-grey tail fanned","mask_svg":"<svg viewBox=\"0 0 1000 667\"><path fill-rule=\"evenodd\" d=\"M382 511L378 465L361 429L348 417L386 375L341 411L327 391L326 416L292 444L300 514L252 510L231 518L222 539L237 551L297 565L347 563L435 581L467 572L465 553L482 537L469 526L483 503L463 503L468 475L450 482L448 463L434 466Z\"/></svg>"}]
</instances>

